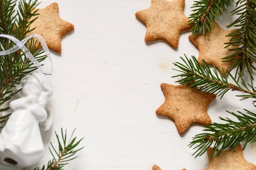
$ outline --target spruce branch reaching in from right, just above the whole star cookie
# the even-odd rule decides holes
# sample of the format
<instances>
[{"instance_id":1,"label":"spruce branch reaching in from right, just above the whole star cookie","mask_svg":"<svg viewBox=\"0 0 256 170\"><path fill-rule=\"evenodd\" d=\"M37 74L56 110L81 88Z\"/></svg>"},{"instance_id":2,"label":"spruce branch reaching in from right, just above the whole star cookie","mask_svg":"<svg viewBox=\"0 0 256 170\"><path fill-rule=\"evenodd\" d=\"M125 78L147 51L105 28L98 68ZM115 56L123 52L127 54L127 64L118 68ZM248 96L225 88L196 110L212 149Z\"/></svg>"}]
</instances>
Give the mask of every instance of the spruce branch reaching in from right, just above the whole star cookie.
<instances>
[{"instance_id":1,"label":"spruce branch reaching in from right, just above the whole star cookie","mask_svg":"<svg viewBox=\"0 0 256 170\"><path fill-rule=\"evenodd\" d=\"M198 90L216 94L217 96L221 96L221 98L228 91L232 90L246 93L245 95L238 95L239 97L242 97L242 100L249 98L256 99L256 89L253 87L253 85L247 85L244 82L244 79L241 78L241 83L244 86L244 88L242 88L236 79L230 74L230 72L227 72L227 74L224 73L224 77L222 77L218 74L218 72L220 72L219 68L217 70L217 68L213 65L212 73L211 69L204 60L202 60L204 66L201 66L194 56L192 56L192 59L188 59L187 57L186 59L183 59L182 57L180 58L183 60L184 64L175 62L174 65L178 67L179 70L174 70L181 72L181 74L174 77L182 78L177 81L181 85L188 85L191 88L198 86ZM223 70L223 72L225 71ZM234 84L228 82L227 75L233 79Z\"/></svg>"}]
</instances>

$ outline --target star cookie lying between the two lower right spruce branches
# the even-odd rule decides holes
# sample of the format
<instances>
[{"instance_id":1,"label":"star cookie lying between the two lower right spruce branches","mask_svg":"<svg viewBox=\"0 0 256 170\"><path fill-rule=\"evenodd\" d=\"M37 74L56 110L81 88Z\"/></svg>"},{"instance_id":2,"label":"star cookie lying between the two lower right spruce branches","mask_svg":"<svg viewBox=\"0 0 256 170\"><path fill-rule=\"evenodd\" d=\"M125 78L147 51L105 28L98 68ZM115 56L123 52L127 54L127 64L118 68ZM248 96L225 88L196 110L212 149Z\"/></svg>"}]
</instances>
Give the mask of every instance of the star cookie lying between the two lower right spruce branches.
<instances>
[{"instance_id":1,"label":"star cookie lying between the two lower right spruce branches","mask_svg":"<svg viewBox=\"0 0 256 170\"><path fill-rule=\"evenodd\" d=\"M216 98L215 94L198 91L186 85L161 84L165 101L156 113L172 118L178 133L183 134L192 123L207 125L212 123L207 114L208 105Z\"/></svg>"}]
</instances>

